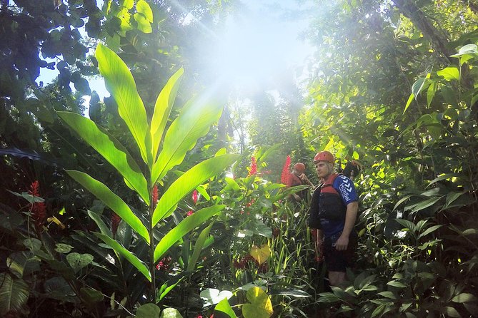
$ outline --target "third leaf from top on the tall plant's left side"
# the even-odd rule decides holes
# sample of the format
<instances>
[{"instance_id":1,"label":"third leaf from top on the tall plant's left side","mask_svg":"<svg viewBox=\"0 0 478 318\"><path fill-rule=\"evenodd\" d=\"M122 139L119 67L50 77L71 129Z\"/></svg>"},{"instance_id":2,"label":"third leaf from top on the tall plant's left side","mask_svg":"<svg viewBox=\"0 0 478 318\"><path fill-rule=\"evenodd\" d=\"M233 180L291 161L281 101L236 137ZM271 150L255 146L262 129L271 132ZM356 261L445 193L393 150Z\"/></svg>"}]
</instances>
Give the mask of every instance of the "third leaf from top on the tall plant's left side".
<instances>
[{"instance_id":1,"label":"third leaf from top on the tall plant's left side","mask_svg":"<svg viewBox=\"0 0 478 318\"><path fill-rule=\"evenodd\" d=\"M129 208L126 203L119 198L118 195L114 194L104 183L99 182L98 180L91 178L87 173L82 173L77 170L65 170L66 173L70 175L71 178L74 178L77 183L83 185L86 190L93 193L96 198L103 201L111 210L116 212L124 222L128 223L133 230L135 230L141 237L146 240L149 244L149 233L144 224L139 220L139 217L134 215L133 211Z\"/></svg>"}]
</instances>

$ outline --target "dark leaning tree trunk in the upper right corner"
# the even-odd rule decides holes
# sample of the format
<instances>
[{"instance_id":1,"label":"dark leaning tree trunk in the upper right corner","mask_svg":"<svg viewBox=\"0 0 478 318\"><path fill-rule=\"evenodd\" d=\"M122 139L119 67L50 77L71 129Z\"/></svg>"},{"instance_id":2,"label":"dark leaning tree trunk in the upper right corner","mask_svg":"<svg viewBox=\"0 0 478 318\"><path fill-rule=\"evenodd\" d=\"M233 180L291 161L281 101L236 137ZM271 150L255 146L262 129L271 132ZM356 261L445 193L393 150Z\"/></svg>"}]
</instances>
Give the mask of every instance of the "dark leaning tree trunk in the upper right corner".
<instances>
[{"instance_id":1,"label":"dark leaning tree trunk in the upper right corner","mask_svg":"<svg viewBox=\"0 0 478 318\"><path fill-rule=\"evenodd\" d=\"M448 39L444 31L437 29L413 0L392 0L395 6L422 31L432 43L434 51L442 56L444 63L449 64L449 56L454 52L447 48Z\"/></svg>"}]
</instances>

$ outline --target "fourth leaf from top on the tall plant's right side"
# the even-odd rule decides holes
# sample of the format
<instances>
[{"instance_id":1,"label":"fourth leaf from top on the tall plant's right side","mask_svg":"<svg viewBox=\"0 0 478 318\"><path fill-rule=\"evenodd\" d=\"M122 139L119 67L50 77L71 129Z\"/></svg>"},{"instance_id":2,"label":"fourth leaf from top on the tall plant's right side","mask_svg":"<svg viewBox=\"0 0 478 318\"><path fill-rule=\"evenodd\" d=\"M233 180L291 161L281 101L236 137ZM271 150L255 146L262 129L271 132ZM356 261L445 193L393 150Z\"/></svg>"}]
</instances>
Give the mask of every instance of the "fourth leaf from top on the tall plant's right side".
<instances>
[{"instance_id":1,"label":"fourth leaf from top on the tall plant's right side","mask_svg":"<svg viewBox=\"0 0 478 318\"><path fill-rule=\"evenodd\" d=\"M163 254L169 250L175 242L186 235L186 233L191 232L191 230L194 230L198 225L209 220L210 217L216 215L219 211L224 210L224 207L226 207L226 205L204 207L204 209L194 212L192 215L189 215L189 217L186 217L179 222L179 224L167 232L167 234L159 241L158 245L156 245L156 248L154 249L154 262L159 260L159 258L163 256Z\"/></svg>"}]
</instances>

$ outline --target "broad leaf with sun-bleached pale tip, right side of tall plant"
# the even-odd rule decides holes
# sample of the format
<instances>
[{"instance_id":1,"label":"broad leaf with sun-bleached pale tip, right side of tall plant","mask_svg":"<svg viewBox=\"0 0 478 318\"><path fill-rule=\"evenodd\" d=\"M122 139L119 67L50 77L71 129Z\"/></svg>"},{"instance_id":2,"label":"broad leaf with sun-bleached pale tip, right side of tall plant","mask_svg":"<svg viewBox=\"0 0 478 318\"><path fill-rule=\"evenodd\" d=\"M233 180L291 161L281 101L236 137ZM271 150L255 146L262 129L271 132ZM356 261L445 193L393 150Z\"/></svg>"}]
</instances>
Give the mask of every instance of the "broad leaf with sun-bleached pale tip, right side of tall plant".
<instances>
[{"instance_id":1,"label":"broad leaf with sun-bleached pale tip, right side of tall plant","mask_svg":"<svg viewBox=\"0 0 478 318\"><path fill-rule=\"evenodd\" d=\"M222 106L208 103L206 98L191 99L184 105L181 114L171 123L158 160L151 171L151 184L184 160L199 138L206 135L209 127L221 116Z\"/></svg>"}]
</instances>

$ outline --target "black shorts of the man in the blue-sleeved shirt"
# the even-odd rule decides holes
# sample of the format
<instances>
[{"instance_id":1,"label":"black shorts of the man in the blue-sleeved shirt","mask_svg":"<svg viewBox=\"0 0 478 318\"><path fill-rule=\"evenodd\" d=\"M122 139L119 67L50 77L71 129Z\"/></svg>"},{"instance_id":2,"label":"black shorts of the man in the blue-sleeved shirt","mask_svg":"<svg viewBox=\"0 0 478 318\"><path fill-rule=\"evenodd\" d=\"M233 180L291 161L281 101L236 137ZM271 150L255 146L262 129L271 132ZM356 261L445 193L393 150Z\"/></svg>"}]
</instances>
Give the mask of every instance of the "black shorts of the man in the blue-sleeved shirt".
<instances>
[{"instance_id":1,"label":"black shorts of the man in the blue-sleeved shirt","mask_svg":"<svg viewBox=\"0 0 478 318\"><path fill-rule=\"evenodd\" d=\"M335 242L342 232L324 239L324 261L329 272L346 272L347 267L353 267L355 251L357 250L357 233L352 231L349 237L347 250L338 251L335 249Z\"/></svg>"}]
</instances>

